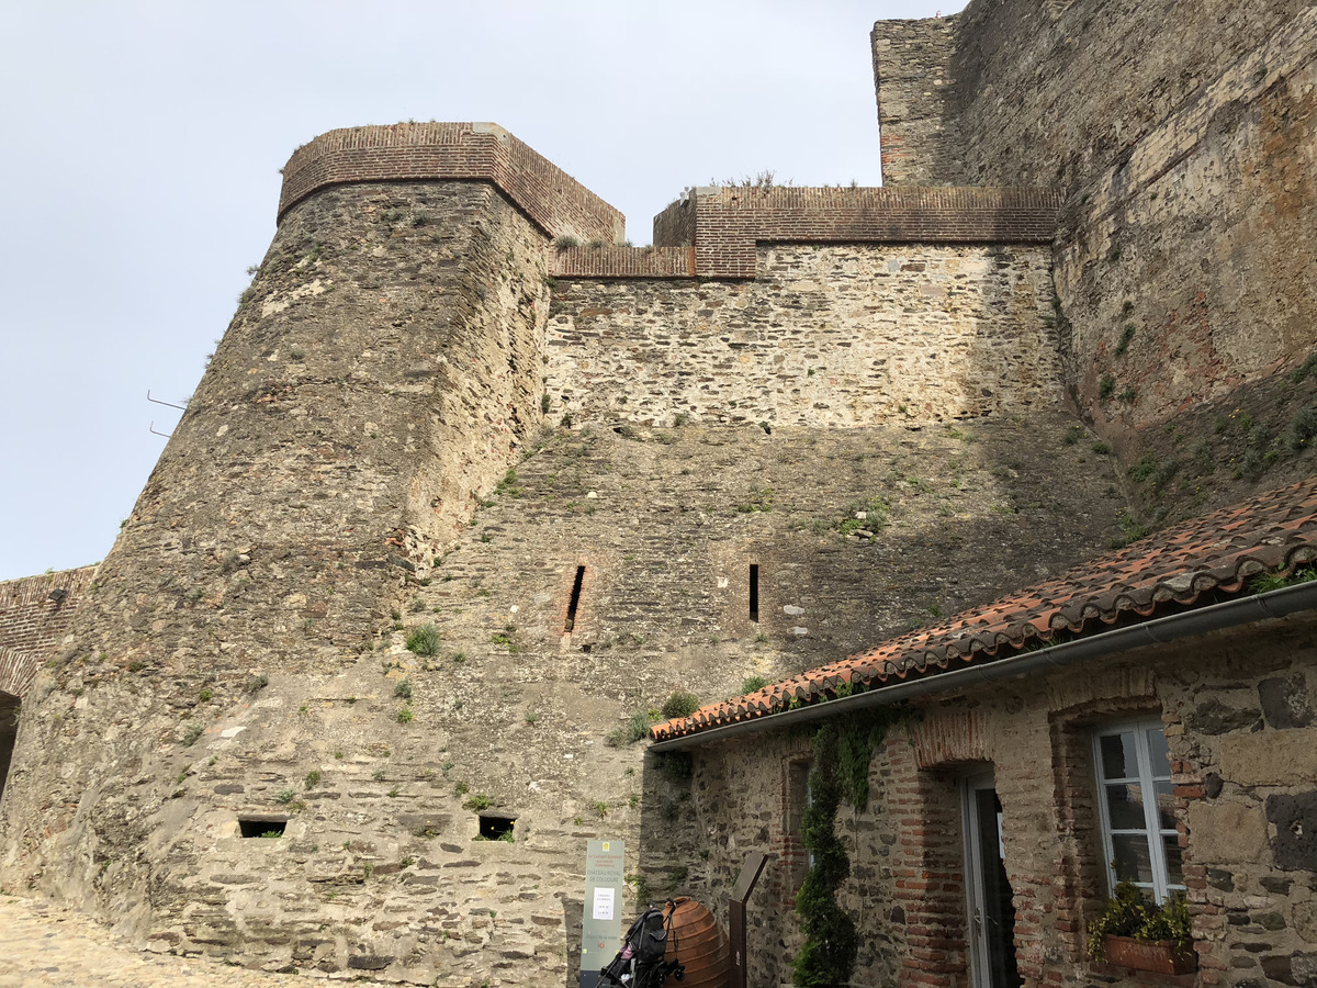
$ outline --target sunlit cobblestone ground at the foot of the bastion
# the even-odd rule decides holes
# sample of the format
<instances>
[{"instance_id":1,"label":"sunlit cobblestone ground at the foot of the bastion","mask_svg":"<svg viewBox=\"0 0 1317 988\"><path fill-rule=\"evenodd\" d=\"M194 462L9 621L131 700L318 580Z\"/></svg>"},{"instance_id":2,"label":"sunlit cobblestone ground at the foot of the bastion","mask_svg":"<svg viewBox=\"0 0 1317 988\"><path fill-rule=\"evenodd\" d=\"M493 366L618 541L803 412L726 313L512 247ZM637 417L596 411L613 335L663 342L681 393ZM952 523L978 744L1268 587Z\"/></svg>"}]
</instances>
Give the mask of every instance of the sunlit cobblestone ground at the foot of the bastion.
<instances>
[{"instance_id":1,"label":"sunlit cobblestone ground at the foot of the bastion","mask_svg":"<svg viewBox=\"0 0 1317 988\"><path fill-rule=\"evenodd\" d=\"M358 981L354 985L382 985ZM63 906L0 894L0 988L298 988L315 980L149 954Z\"/></svg>"}]
</instances>

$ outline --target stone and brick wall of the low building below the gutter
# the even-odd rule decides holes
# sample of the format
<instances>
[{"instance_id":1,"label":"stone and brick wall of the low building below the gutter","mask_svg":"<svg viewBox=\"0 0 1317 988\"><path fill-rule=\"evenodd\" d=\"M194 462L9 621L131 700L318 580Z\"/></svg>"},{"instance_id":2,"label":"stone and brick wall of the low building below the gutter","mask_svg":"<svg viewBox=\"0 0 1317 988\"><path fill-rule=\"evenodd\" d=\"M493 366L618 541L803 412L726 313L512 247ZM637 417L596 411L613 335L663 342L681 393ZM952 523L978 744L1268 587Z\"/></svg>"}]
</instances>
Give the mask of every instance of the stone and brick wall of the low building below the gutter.
<instances>
[{"instance_id":1,"label":"stone and brick wall of the low building below the gutter","mask_svg":"<svg viewBox=\"0 0 1317 988\"><path fill-rule=\"evenodd\" d=\"M1305 984L1317 963L1317 688L1306 619L1218 632L917 705L871 765L871 808L843 804L852 873L843 905L860 925L853 980L964 984L965 906L957 782L990 768L1002 802L1014 943L1026 984L1142 984L1085 956L1106 894L1092 731L1160 715L1171 751L1200 974L1196 983ZM1266 651L1256 648L1266 638ZM801 736L756 734L697 750L690 811L726 887L747 850L773 850L749 904L752 984L790 979L802 798ZM792 786L797 788L793 792ZM1185 983L1193 981L1187 979Z\"/></svg>"}]
</instances>

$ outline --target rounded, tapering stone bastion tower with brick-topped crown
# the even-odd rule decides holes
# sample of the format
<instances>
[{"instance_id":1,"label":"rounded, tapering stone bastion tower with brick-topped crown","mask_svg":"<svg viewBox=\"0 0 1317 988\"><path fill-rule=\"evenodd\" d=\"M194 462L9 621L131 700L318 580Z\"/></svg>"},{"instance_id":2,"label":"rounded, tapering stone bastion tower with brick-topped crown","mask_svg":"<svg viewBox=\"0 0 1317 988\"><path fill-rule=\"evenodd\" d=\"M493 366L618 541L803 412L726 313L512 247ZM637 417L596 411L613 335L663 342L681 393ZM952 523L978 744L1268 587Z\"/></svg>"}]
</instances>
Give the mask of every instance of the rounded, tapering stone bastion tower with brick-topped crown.
<instances>
[{"instance_id":1,"label":"rounded, tapering stone bastion tower with brick-topped crown","mask_svg":"<svg viewBox=\"0 0 1317 988\"><path fill-rule=\"evenodd\" d=\"M416 867L458 773L424 686L382 674L385 645L540 429L547 245L622 229L490 124L336 130L292 155L274 241L29 697L7 887L249 963L427 984L468 966L445 933L469 948L470 917L435 916L452 880ZM382 881L402 862L415 880ZM565 964L562 906L531 918L499 942L557 939Z\"/></svg>"}]
</instances>

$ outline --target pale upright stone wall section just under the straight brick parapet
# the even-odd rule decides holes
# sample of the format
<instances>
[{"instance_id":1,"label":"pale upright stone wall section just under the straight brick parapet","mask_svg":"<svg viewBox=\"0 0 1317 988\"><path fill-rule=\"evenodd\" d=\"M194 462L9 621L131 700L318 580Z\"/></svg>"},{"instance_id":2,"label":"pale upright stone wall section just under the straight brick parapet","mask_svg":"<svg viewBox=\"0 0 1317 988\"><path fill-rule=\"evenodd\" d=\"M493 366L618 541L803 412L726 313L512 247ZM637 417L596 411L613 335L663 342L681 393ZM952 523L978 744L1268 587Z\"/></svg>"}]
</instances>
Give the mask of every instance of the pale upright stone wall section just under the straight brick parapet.
<instances>
[{"instance_id":1,"label":"pale upright stone wall section just under the straight brick parapet","mask_svg":"<svg viewBox=\"0 0 1317 988\"><path fill-rule=\"evenodd\" d=\"M553 415L855 427L1060 407L1046 248L780 244L753 266L560 283Z\"/></svg>"}]
</instances>

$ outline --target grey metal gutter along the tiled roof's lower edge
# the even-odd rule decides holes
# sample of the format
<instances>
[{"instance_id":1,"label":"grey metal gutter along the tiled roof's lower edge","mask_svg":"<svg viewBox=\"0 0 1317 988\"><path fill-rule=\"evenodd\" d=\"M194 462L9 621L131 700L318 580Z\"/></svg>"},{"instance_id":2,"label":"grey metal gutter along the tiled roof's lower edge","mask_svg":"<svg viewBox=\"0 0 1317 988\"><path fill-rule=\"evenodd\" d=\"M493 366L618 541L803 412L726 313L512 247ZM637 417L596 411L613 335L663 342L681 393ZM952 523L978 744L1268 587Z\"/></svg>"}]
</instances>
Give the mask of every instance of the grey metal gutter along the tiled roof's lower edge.
<instances>
[{"instance_id":1,"label":"grey metal gutter along the tiled roof's lower edge","mask_svg":"<svg viewBox=\"0 0 1317 988\"><path fill-rule=\"evenodd\" d=\"M864 693L828 700L820 703L784 710L778 714L765 714L749 721L712 727L697 734L686 734L680 738L655 742L649 751L681 751L694 748L714 742L736 738L755 731L768 731L793 725L822 721L827 717L865 710L874 706L886 706L913 697L923 697L930 693L946 693L968 686L977 686L985 682L998 682L1001 680L1027 676L1036 672L1051 672L1071 663L1084 659L1100 659L1117 652L1127 652L1146 645L1158 645L1175 642L1181 638L1205 635L1210 631L1221 631L1239 624L1249 624L1255 620L1270 618L1284 618L1289 614L1317 609L1317 581L1283 586L1279 590L1270 590L1263 594L1237 597L1233 601L1208 605L1181 614L1171 614L1166 618L1129 627L1104 631L1100 635L1063 642L1036 652L1022 652L1009 659L997 661L971 663L951 672L931 673L917 680L893 682L889 686L878 686Z\"/></svg>"}]
</instances>

